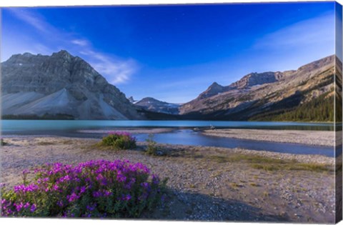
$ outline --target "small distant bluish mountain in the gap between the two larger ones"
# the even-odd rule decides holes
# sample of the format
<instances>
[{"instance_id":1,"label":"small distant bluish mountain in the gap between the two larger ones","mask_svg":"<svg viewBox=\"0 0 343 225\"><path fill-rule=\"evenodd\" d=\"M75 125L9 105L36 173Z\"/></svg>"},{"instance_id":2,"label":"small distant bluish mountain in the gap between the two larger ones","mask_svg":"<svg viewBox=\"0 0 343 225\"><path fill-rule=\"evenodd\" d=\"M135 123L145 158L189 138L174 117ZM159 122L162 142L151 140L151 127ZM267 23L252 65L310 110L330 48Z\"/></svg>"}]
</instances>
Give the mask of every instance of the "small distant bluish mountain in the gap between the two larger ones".
<instances>
[{"instance_id":1,"label":"small distant bluish mountain in the gap between the two larger ones","mask_svg":"<svg viewBox=\"0 0 343 225\"><path fill-rule=\"evenodd\" d=\"M179 114L179 104L171 104L165 101L159 101L154 98L146 97L137 101L136 106L141 106L146 111L153 111L161 114Z\"/></svg>"}]
</instances>

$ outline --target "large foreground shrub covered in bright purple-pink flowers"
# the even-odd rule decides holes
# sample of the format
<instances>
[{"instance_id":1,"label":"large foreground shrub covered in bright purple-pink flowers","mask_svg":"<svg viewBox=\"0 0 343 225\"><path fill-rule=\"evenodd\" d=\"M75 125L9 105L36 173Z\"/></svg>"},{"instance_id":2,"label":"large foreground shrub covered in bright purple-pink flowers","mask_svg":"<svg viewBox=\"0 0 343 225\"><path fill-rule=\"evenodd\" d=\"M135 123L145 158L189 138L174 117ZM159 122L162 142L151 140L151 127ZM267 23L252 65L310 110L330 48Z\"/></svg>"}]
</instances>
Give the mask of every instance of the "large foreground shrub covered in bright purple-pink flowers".
<instances>
[{"instance_id":1,"label":"large foreground shrub covered in bright purple-pink flowers","mask_svg":"<svg viewBox=\"0 0 343 225\"><path fill-rule=\"evenodd\" d=\"M46 164L34 181L2 189L1 216L137 217L164 198L166 180L143 164L88 161Z\"/></svg>"}]
</instances>

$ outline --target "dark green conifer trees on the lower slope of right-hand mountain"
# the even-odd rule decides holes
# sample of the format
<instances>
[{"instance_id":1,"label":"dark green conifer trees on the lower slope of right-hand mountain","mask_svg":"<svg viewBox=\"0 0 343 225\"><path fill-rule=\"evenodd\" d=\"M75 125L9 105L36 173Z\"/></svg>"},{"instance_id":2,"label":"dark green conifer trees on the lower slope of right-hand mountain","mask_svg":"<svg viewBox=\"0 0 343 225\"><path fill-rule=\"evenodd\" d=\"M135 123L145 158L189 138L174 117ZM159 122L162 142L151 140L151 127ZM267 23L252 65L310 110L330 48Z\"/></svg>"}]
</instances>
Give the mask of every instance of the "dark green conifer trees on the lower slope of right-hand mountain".
<instances>
[{"instance_id":1,"label":"dark green conifer trees on the lower slope of right-hand mountain","mask_svg":"<svg viewBox=\"0 0 343 225\"><path fill-rule=\"evenodd\" d=\"M316 99L279 114L254 116L258 121L334 121L334 98L322 94Z\"/></svg>"}]
</instances>

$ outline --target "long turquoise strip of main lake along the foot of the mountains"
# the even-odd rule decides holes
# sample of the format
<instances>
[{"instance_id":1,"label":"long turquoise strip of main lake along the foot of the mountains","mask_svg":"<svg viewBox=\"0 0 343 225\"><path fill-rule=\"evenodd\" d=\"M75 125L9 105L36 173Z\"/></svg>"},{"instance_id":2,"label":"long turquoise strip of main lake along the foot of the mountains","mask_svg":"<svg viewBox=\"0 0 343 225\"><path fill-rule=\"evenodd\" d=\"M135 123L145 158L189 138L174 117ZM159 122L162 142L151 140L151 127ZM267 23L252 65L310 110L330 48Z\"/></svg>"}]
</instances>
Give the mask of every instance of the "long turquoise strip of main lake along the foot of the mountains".
<instances>
[{"instance_id":1,"label":"long turquoise strip of main lake along the foot of the mountains","mask_svg":"<svg viewBox=\"0 0 343 225\"><path fill-rule=\"evenodd\" d=\"M76 129L113 129L116 127L169 127L193 128L209 127L237 129L295 129L295 130L332 130L333 124L297 122L259 122L259 121L105 121L105 120L3 120L1 130L39 131L39 130L76 130Z\"/></svg>"}]
</instances>

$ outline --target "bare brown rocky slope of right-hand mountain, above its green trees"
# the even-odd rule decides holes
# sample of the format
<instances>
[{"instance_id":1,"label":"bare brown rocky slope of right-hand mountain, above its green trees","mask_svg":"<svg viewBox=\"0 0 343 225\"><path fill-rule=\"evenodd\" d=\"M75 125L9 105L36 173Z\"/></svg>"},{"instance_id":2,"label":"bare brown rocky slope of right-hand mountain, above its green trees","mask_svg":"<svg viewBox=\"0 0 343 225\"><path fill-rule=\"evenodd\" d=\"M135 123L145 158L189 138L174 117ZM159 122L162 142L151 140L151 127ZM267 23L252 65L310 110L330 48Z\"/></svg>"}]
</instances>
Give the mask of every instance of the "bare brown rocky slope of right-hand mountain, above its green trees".
<instances>
[{"instance_id":1,"label":"bare brown rocky slope of right-hand mountain, above its green trees","mask_svg":"<svg viewBox=\"0 0 343 225\"><path fill-rule=\"evenodd\" d=\"M334 61L332 55L300 66L296 71L247 74L229 86L222 86L228 91L207 98L200 95L183 104L180 114L207 119L249 120L268 111L283 114L295 110L328 93L324 98L326 101L333 94ZM256 80L259 75L262 75L262 79L259 77Z\"/></svg>"}]
</instances>

